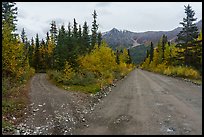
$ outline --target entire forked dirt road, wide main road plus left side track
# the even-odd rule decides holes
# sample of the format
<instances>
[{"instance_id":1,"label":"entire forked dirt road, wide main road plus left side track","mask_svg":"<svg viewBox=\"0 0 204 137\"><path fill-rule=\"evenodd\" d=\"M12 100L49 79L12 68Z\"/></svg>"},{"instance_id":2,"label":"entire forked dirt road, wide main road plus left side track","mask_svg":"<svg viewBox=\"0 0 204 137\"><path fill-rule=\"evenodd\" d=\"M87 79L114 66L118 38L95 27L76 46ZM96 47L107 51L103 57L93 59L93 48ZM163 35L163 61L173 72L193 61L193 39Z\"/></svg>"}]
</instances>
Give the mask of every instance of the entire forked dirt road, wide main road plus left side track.
<instances>
[{"instance_id":1,"label":"entire forked dirt road, wide main road plus left side track","mask_svg":"<svg viewBox=\"0 0 204 137\"><path fill-rule=\"evenodd\" d=\"M136 69L93 96L45 76L33 77L31 113L15 134L202 134L202 86Z\"/></svg>"}]
</instances>

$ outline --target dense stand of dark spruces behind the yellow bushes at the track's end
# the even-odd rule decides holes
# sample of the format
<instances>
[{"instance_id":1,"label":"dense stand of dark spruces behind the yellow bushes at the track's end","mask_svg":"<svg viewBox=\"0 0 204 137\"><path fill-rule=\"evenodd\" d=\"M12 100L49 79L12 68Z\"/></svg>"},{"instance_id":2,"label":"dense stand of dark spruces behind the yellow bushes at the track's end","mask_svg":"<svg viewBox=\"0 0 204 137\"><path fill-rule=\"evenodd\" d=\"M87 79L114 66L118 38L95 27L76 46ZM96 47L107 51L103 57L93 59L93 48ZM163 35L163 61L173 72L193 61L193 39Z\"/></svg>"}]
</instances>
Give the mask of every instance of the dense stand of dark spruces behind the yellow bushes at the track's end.
<instances>
[{"instance_id":1,"label":"dense stand of dark spruces behind the yellow bushes at the track's end","mask_svg":"<svg viewBox=\"0 0 204 137\"><path fill-rule=\"evenodd\" d=\"M45 72L47 69L62 70L65 61L68 61L73 68L78 67L77 57L89 53L96 43L99 46L101 44L102 35L97 32L96 17L97 14L94 11L91 35L89 35L87 22L81 26L74 19L73 26L69 22L67 29L62 25L58 30L56 22L52 21L46 40L39 41L38 34L36 34L35 40L32 38L30 45L28 43L27 50L31 67L35 68L36 72ZM22 41L25 37L23 30Z\"/></svg>"}]
</instances>

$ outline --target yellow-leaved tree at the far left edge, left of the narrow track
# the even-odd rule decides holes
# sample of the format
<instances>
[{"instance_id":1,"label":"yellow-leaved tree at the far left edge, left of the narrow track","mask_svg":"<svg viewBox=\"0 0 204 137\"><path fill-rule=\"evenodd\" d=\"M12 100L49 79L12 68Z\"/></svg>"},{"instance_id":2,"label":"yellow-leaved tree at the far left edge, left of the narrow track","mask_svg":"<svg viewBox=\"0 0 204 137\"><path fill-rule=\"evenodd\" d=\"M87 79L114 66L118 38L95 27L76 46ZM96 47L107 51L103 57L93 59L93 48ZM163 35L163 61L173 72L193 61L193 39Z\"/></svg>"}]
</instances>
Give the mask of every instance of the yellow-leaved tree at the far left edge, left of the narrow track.
<instances>
[{"instance_id":1,"label":"yellow-leaved tree at the far left edge, left of the narrow track","mask_svg":"<svg viewBox=\"0 0 204 137\"><path fill-rule=\"evenodd\" d=\"M9 24L3 21L2 27L2 71L3 76L20 78L29 68L28 59L24 56L24 45L19 37L14 38Z\"/></svg>"}]
</instances>

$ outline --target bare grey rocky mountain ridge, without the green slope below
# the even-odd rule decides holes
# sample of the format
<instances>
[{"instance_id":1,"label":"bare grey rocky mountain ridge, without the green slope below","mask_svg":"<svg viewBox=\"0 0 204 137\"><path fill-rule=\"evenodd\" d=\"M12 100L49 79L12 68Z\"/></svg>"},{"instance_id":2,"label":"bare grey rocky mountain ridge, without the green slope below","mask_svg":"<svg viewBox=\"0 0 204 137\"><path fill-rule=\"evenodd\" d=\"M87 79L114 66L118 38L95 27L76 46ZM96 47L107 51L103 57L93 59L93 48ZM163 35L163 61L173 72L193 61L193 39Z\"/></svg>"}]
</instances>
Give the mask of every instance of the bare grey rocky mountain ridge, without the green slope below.
<instances>
[{"instance_id":1,"label":"bare grey rocky mountain ridge, without the green slope below","mask_svg":"<svg viewBox=\"0 0 204 137\"><path fill-rule=\"evenodd\" d=\"M202 29L202 20L196 23L199 30ZM102 38L113 48L130 48L140 44L149 45L152 41L154 46L157 44L163 34L167 35L169 41L174 41L177 34L182 30L177 27L171 31L147 31L147 32L131 32L128 30L119 31L116 28L108 32L102 33Z\"/></svg>"}]
</instances>

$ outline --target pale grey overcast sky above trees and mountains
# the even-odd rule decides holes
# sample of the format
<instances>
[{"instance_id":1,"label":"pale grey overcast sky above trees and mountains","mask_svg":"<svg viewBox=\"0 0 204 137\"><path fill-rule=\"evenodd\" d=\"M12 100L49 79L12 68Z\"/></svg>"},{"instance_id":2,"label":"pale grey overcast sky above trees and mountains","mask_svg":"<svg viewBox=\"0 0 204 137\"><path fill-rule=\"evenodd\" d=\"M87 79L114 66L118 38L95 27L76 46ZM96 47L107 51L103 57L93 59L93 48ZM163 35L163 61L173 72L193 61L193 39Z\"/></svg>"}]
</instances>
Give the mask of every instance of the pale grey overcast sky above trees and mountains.
<instances>
[{"instance_id":1,"label":"pale grey overcast sky above trees and mountains","mask_svg":"<svg viewBox=\"0 0 204 137\"><path fill-rule=\"evenodd\" d=\"M112 28L133 32L169 31L178 26L186 17L184 5L190 4L197 21L202 19L202 2L16 2L18 7L18 33L25 28L28 39L45 38L50 23L55 20L57 27L67 29L73 19L81 26L87 21L89 30L96 10L99 31Z\"/></svg>"}]
</instances>

